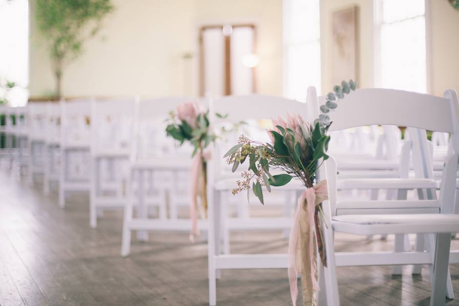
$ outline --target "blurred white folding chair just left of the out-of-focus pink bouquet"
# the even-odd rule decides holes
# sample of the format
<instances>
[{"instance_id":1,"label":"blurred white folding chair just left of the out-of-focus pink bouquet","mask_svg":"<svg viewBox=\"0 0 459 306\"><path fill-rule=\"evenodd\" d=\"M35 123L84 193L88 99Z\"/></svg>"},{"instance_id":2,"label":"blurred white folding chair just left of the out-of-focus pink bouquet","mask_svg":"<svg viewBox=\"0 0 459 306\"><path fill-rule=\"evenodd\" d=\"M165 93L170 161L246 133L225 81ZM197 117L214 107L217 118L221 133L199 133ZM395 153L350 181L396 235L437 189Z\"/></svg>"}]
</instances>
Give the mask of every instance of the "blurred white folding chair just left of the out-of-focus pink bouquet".
<instances>
[{"instance_id":1,"label":"blurred white folding chair just left of the out-of-focus pink bouquet","mask_svg":"<svg viewBox=\"0 0 459 306\"><path fill-rule=\"evenodd\" d=\"M123 239L121 255L130 253L131 232L137 231L138 240L148 239L146 231L189 231L190 219L177 218L179 201L177 197L187 193L187 184L182 184L188 177L191 166L191 151L171 146L165 138L165 120L171 110L182 103L193 101L188 97L160 98L141 100L134 117L134 150L132 151L127 185L126 204L123 219ZM182 179L177 180L177 175ZM167 195L171 201L171 218L167 218ZM173 195L173 196L171 196ZM137 204L134 217L134 206ZM188 204L189 205L189 204ZM159 218L148 218L148 207L156 206ZM207 229L204 220L199 220L201 230Z\"/></svg>"}]
</instances>

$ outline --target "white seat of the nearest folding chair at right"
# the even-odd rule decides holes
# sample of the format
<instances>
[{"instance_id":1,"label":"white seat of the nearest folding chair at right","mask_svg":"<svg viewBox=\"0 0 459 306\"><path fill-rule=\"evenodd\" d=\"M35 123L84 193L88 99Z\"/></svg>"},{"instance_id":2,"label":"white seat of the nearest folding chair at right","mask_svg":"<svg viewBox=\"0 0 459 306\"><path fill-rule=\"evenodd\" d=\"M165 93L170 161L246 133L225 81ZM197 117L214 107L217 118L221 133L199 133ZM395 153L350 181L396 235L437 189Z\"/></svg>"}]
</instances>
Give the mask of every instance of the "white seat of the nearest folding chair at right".
<instances>
[{"instance_id":1,"label":"white seat of the nearest folding chair at right","mask_svg":"<svg viewBox=\"0 0 459 306\"><path fill-rule=\"evenodd\" d=\"M455 233L459 215L342 215L332 218L333 229L356 235Z\"/></svg>"}]
</instances>

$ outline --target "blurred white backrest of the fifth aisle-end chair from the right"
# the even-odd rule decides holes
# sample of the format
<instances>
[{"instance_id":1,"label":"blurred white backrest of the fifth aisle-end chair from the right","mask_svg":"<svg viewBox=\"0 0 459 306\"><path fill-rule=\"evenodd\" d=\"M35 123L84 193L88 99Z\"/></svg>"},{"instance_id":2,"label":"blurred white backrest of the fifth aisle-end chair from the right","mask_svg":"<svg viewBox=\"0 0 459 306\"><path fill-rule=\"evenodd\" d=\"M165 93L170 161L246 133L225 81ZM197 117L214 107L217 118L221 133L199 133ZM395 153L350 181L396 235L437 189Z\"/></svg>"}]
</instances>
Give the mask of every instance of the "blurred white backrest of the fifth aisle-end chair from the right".
<instances>
[{"instance_id":1,"label":"blurred white backrest of the fifth aisle-end chair from the right","mask_svg":"<svg viewBox=\"0 0 459 306\"><path fill-rule=\"evenodd\" d=\"M62 100L60 102L61 147L90 147L91 101L93 100Z\"/></svg>"}]
</instances>

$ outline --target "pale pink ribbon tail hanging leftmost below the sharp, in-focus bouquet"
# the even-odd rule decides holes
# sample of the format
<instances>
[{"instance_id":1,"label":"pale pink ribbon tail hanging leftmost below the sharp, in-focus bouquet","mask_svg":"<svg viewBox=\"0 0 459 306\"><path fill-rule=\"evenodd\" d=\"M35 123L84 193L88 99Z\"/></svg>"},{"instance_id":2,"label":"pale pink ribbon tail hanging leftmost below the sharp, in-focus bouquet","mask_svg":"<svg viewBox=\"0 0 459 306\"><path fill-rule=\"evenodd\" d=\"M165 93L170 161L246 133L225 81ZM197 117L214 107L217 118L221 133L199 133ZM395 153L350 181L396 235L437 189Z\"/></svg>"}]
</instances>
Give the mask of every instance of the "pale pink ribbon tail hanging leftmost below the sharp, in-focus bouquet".
<instances>
[{"instance_id":1,"label":"pale pink ribbon tail hanging leftmost below the sharp, in-focus bouquet","mask_svg":"<svg viewBox=\"0 0 459 306\"><path fill-rule=\"evenodd\" d=\"M296 243L298 241L298 232L300 228L299 217L300 217L300 202L302 197L298 199L298 206L295 210L295 215L293 216L293 224L290 229L289 237L289 283L290 283L290 296L292 297L292 304L296 306L296 298L298 297L298 270L296 269Z\"/></svg>"}]
</instances>

